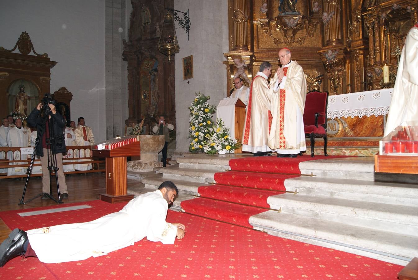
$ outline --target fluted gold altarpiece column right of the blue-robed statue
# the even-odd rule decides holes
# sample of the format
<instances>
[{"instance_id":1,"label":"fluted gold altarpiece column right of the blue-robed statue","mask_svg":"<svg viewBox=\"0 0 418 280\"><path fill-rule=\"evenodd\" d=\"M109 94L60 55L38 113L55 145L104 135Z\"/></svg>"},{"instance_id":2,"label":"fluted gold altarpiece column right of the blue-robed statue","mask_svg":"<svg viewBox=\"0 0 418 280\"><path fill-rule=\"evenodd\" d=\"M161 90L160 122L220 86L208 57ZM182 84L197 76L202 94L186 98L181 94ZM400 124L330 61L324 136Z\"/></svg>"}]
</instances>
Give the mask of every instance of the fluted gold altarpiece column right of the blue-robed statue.
<instances>
[{"instance_id":1,"label":"fluted gold altarpiece column right of the blue-robed statue","mask_svg":"<svg viewBox=\"0 0 418 280\"><path fill-rule=\"evenodd\" d=\"M341 0L324 0L324 13L328 13L331 20L324 25L326 46L342 44L341 32Z\"/></svg>"}]
</instances>

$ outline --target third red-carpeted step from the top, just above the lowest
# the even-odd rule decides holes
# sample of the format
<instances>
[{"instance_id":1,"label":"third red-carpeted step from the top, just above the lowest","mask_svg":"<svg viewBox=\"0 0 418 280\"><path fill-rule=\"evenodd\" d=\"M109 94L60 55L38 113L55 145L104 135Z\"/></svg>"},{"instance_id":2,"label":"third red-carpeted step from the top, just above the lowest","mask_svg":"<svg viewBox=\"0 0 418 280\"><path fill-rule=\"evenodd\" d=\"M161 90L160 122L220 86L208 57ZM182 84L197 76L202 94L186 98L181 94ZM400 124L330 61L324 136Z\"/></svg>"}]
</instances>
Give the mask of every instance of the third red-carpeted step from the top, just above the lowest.
<instances>
[{"instance_id":1,"label":"third red-carpeted step from the top, just above the lowest","mask_svg":"<svg viewBox=\"0 0 418 280\"><path fill-rule=\"evenodd\" d=\"M270 208L267 203L267 198L270 195L282 194L271 190L253 190L222 185L201 186L197 191L202 197L206 198L267 208Z\"/></svg>"}]
</instances>

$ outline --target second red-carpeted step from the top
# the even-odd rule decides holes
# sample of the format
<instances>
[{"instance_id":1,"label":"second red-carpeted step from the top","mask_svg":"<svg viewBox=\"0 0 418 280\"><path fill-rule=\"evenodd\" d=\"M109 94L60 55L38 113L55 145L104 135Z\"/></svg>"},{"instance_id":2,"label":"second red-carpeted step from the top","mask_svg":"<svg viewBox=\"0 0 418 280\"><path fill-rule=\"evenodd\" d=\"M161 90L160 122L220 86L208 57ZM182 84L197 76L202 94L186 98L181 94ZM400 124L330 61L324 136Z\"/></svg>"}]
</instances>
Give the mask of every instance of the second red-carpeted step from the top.
<instances>
[{"instance_id":1,"label":"second red-carpeted step from the top","mask_svg":"<svg viewBox=\"0 0 418 280\"><path fill-rule=\"evenodd\" d=\"M279 175L266 173L228 171L215 173L217 184L234 185L265 190L286 190L284 181L299 175Z\"/></svg>"}]
</instances>

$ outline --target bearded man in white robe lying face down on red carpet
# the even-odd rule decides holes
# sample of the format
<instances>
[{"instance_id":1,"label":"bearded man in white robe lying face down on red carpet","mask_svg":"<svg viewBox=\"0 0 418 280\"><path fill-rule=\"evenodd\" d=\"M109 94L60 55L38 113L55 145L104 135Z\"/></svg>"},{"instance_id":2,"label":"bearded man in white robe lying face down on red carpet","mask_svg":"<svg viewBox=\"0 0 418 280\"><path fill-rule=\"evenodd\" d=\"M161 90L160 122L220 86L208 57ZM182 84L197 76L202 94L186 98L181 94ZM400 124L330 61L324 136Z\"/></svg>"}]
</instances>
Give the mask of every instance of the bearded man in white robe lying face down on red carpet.
<instances>
[{"instance_id":1,"label":"bearded man in white robe lying face down on red carpet","mask_svg":"<svg viewBox=\"0 0 418 280\"><path fill-rule=\"evenodd\" d=\"M168 203L177 193L176 185L166 181L158 190L134 198L119 212L94 221L31 229L27 237L25 231L15 229L0 245L0 252L4 252L0 266L18 255L38 257L46 263L79 261L133 245L144 237L174 244L176 236L184 237L185 228L181 223L166 222ZM10 240L15 241L8 245Z\"/></svg>"}]
</instances>

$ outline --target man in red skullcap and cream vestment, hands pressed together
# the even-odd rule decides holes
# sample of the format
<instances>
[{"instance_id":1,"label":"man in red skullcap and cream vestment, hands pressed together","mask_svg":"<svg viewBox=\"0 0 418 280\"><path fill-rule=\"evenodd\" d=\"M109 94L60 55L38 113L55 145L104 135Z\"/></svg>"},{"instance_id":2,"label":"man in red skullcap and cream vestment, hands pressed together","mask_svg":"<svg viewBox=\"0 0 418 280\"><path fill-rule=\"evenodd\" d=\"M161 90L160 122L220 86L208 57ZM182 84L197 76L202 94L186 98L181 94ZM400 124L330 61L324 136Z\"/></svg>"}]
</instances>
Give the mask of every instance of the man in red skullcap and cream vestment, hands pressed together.
<instances>
[{"instance_id":1,"label":"man in red skullcap and cream vestment, hands pressed together","mask_svg":"<svg viewBox=\"0 0 418 280\"><path fill-rule=\"evenodd\" d=\"M273 121L268 146L278 157L297 157L306 151L303 128L306 79L302 67L291 59L288 48L279 51L279 59L282 67L275 74L275 88L279 90L271 98Z\"/></svg>"}]
</instances>

